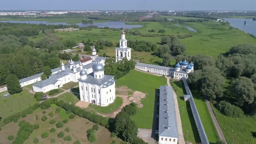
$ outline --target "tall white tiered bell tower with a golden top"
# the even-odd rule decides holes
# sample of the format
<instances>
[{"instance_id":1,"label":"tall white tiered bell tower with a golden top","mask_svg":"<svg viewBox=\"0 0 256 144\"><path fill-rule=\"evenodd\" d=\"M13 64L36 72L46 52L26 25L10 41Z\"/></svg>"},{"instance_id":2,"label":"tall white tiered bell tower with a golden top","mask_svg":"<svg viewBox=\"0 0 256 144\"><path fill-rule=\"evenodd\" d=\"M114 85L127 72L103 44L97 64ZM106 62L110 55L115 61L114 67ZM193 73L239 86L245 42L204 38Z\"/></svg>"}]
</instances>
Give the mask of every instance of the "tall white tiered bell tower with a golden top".
<instances>
[{"instance_id":1,"label":"tall white tiered bell tower with a golden top","mask_svg":"<svg viewBox=\"0 0 256 144\"><path fill-rule=\"evenodd\" d=\"M115 61L120 61L123 58L127 58L128 60L131 59L131 48L127 47L127 40L125 39L124 29L121 32L119 47L115 48Z\"/></svg>"}]
</instances>

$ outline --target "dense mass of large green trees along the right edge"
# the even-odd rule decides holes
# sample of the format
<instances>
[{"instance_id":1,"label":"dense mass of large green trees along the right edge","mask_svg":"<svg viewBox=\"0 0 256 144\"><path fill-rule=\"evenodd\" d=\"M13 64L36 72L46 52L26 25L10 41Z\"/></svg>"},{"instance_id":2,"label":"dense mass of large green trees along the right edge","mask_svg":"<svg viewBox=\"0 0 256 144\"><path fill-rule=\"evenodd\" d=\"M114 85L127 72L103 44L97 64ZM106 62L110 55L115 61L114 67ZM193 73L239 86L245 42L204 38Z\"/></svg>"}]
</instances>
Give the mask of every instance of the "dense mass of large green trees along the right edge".
<instances>
[{"instance_id":1,"label":"dense mass of large green trees along the right edge","mask_svg":"<svg viewBox=\"0 0 256 144\"><path fill-rule=\"evenodd\" d=\"M255 54L256 46L238 45L218 56L216 61L210 56L188 56L187 60L192 60L195 65L188 82L192 88L201 90L203 95L212 100L224 99L242 108L246 114L255 115ZM177 59L181 58L177 56ZM240 114L239 109L234 109Z\"/></svg>"}]
</instances>

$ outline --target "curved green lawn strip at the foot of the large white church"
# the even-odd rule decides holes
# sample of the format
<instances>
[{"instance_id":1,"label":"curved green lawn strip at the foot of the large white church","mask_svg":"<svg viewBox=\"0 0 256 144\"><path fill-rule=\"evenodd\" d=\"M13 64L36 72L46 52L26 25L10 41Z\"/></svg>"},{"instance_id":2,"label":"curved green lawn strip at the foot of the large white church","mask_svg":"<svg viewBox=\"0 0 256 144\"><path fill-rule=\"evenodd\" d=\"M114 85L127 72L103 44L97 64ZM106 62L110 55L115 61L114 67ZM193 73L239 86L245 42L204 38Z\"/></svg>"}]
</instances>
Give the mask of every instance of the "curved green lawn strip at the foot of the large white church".
<instances>
[{"instance_id":1,"label":"curved green lawn strip at the foot of the large white church","mask_svg":"<svg viewBox=\"0 0 256 144\"><path fill-rule=\"evenodd\" d=\"M115 101L108 106L102 107L102 106L90 104L88 108L92 108L93 111L106 114L106 113L111 113L116 111L122 105L122 103L123 103L122 98L116 97Z\"/></svg>"}]
</instances>

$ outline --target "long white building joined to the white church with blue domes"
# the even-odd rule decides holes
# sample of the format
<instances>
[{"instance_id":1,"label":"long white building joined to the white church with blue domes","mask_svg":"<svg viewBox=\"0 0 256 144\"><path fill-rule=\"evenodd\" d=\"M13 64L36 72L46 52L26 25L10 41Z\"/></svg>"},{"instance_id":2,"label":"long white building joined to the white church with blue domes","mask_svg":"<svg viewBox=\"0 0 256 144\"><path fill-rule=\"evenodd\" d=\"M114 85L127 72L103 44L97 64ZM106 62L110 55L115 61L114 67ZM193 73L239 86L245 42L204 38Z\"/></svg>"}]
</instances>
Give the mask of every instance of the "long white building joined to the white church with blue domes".
<instances>
[{"instance_id":1,"label":"long white building joined to the white church with blue domes","mask_svg":"<svg viewBox=\"0 0 256 144\"><path fill-rule=\"evenodd\" d=\"M186 59L182 62L178 62L174 68L169 68L159 65L151 65L146 63L137 62L135 65L136 69L142 70L144 72L150 72L157 75L171 76L174 79L181 79L188 77L190 72L194 72L194 64L192 62L188 63Z\"/></svg>"}]
</instances>

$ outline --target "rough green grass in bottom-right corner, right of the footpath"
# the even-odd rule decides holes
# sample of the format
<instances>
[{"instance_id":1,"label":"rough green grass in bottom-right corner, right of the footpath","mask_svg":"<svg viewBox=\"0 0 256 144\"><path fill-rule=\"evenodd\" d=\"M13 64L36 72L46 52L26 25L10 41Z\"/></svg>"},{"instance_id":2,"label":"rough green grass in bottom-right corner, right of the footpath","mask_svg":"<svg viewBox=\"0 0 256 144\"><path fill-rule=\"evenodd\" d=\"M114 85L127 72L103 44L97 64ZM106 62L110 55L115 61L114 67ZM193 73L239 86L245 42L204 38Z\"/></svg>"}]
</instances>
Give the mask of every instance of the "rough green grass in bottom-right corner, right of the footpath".
<instances>
[{"instance_id":1,"label":"rough green grass in bottom-right corner, right of the footpath","mask_svg":"<svg viewBox=\"0 0 256 144\"><path fill-rule=\"evenodd\" d=\"M233 134L235 134L234 144L256 144L256 138L253 137L253 132L256 132L256 116L244 115L243 118L232 118L222 113L219 115L219 110L213 105L212 108L229 144L232 143Z\"/></svg>"}]
</instances>

